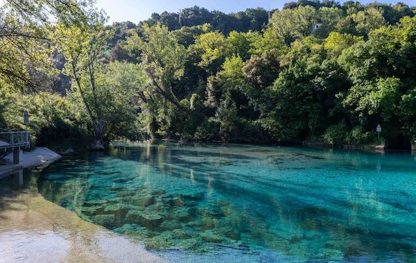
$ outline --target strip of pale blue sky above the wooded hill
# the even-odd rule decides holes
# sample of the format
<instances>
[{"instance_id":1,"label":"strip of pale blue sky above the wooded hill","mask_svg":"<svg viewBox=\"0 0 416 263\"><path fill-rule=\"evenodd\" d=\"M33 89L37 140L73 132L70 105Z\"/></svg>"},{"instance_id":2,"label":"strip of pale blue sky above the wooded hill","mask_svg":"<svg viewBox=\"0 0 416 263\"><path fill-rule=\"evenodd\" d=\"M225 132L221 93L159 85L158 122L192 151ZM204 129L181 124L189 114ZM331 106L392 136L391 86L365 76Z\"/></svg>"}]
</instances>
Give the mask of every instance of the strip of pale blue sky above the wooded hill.
<instances>
[{"instance_id":1,"label":"strip of pale blue sky above the wooded hill","mask_svg":"<svg viewBox=\"0 0 416 263\"><path fill-rule=\"evenodd\" d=\"M225 13L243 11L246 8L262 7L265 9L279 8L284 3L296 0L96 0L96 6L103 8L110 16L109 23L131 21L138 23L146 20L153 12L178 12L180 9L200 6L208 10L220 10ZM358 1L358 0L356 0ZM416 0L378 0L379 3L407 3L416 6ZM340 1L343 2L343 1ZM374 0L361 0L361 3L370 3Z\"/></svg>"}]
</instances>

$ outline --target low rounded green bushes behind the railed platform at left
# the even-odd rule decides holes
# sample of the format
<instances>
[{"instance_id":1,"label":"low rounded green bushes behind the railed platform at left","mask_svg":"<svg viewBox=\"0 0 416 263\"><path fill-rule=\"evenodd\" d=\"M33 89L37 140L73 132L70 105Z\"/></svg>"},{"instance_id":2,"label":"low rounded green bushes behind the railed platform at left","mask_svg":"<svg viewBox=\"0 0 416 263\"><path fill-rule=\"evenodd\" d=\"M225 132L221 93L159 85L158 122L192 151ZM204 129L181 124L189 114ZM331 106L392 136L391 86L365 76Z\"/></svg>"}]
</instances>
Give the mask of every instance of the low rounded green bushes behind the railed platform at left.
<instances>
[{"instance_id":1,"label":"low rounded green bushes behind the railed platform at left","mask_svg":"<svg viewBox=\"0 0 416 263\"><path fill-rule=\"evenodd\" d=\"M0 101L3 128L29 130L32 142L42 140L42 144L71 141L82 143L87 139L87 131L81 114L75 104L58 94L39 92L22 95L17 90L0 87ZM23 124L23 113L29 114L29 124ZM49 136L46 139L46 133ZM68 135L72 135L68 137Z\"/></svg>"}]
</instances>

